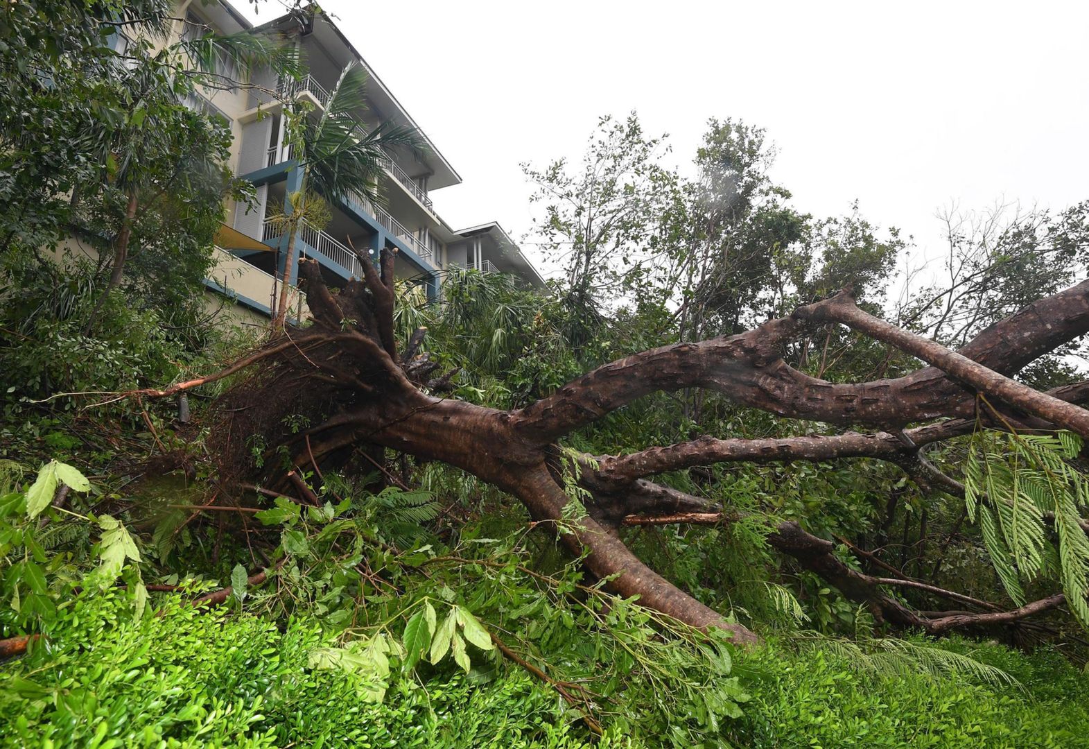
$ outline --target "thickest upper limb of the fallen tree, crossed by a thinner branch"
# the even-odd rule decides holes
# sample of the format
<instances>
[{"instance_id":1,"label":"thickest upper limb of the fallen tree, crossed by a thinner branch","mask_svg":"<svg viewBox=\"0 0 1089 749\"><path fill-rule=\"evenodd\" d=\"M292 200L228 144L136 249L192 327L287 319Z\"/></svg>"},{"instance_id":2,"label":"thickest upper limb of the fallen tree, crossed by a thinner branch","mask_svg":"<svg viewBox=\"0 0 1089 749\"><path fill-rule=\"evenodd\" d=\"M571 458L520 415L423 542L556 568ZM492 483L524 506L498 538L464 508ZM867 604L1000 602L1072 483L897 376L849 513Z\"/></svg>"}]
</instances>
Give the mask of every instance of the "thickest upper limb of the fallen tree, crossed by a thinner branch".
<instances>
[{"instance_id":1,"label":"thickest upper limb of the fallen tree, crossed by a thinner branch","mask_svg":"<svg viewBox=\"0 0 1089 749\"><path fill-rule=\"evenodd\" d=\"M548 444L657 390L703 387L736 403L781 416L898 430L911 422L964 416L974 394L938 367L895 379L833 384L783 361L782 343L810 328L813 309L736 336L675 343L611 362L512 414L512 426ZM817 315L819 316L819 315ZM1089 333L1089 281L1030 304L992 325L962 349L998 374L1011 375L1055 347Z\"/></svg>"}]
</instances>

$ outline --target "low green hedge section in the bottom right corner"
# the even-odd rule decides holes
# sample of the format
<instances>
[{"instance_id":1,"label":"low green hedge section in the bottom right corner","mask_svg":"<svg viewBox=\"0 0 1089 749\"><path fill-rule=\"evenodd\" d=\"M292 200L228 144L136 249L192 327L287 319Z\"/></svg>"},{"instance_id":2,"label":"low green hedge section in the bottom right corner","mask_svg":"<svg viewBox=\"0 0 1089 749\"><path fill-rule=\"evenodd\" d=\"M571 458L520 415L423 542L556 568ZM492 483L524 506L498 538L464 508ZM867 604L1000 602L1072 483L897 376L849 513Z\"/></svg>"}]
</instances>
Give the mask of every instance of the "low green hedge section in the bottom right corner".
<instances>
[{"instance_id":1,"label":"low green hedge section in the bottom right corner","mask_svg":"<svg viewBox=\"0 0 1089 749\"><path fill-rule=\"evenodd\" d=\"M737 660L752 700L734 725L735 740L754 748L1089 747L1085 674L1060 657L998 644L939 647L1001 668L1017 684L933 675L921 664L914 673L881 674L827 645L795 652L769 643Z\"/></svg>"}]
</instances>

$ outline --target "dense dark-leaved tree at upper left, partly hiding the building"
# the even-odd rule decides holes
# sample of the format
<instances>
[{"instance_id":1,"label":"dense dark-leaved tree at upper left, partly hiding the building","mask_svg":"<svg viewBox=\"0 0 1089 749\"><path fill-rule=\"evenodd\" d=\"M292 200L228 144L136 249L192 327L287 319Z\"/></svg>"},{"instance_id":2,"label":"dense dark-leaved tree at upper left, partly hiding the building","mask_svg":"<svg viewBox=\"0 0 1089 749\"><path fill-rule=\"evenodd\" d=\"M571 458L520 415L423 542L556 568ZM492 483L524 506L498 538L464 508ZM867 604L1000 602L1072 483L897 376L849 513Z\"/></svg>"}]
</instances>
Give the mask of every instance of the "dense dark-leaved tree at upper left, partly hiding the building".
<instances>
[{"instance_id":1,"label":"dense dark-leaved tree at upper left, partly hiding the building","mask_svg":"<svg viewBox=\"0 0 1089 749\"><path fill-rule=\"evenodd\" d=\"M248 196L228 168L225 123L186 100L248 87L256 67L297 71L276 37L218 35L170 10L162 0L4 9L0 195L13 210L0 230L20 255L73 234L97 251L107 279L88 330L134 250L143 290L183 304L205 277L223 198Z\"/></svg>"}]
</instances>

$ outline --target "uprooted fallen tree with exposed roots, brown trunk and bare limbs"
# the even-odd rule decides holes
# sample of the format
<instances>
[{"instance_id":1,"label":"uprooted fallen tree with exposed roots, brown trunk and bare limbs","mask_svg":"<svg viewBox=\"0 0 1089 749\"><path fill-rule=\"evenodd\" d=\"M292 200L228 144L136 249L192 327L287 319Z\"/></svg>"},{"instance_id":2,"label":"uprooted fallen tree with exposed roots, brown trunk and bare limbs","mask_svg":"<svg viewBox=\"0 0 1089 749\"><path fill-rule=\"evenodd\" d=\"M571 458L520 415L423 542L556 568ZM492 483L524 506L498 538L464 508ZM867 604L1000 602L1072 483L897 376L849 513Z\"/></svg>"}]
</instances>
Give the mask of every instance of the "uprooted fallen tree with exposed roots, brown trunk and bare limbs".
<instances>
[{"instance_id":1,"label":"uprooted fallen tree with exposed roots, brown trunk and bare limbs","mask_svg":"<svg viewBox=\"0 0 1089 749\"><path fill-rule=\"evenodd\" d=\"M291 479L297 479L295 471L313 469L321 475L343 469L356 454L375 461L387 449L442 461L517 497L537 523L553 524L573 553L585 555L589 571L608 579L616 593L638 595L643 605L696 627L726 628L741 642L756 637L650 569L622 542L617 533L622 524L735 519L703 497L652 483L649 476L729 461L869 457L900 466L928 490L955 491L958 482L938 470L923 448L968 434L978 423L1065 428L1089 437L1089 411L1077 406L1089 395L1089 383L1041 392L1012 378L1033 360L1089 331L1089 281L1030 304L955 352L867 314L844 291L747 333L614 361L526 408L501 411L443 396L451 389L453 373L437 375L439 364L416 354L423 331L399 352L393 255L383 252L380 268L365 256L360 264L365 278L333 293L318 265L303 262L299 273L313 325L286 328L221 375L138 395L174 395L245 365L254 374L221 398L221 418L210 440L224 485L257 480L286 492ZM833 384L785 361L786 346L830 325L852 328L928 366L892 379ZM693 387L785 419L876 431L776 439L707 436L632 455L583 456L574 461L559 447L565 436L638 398ZM285 433L282 424L290 414L304 415L308 426ZM264 457L257 460L247 442L250 435L266 439ZM286 467L265 459L277 454L289 456ZM571 490L573 476L579 486L576 493ZM1014 623L1064 603L1062 594L1053 594L1001 611L905 576L864 573L833 553L833 542L793 521L775 525L768 543L865 604L879 621L896 627L942 633ZM897 587L927 590L956 602L958 608L913 611L890 593ZM966 605L980 611L966 613Z\"/></svg>"}]
</instances>

